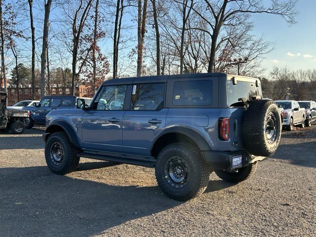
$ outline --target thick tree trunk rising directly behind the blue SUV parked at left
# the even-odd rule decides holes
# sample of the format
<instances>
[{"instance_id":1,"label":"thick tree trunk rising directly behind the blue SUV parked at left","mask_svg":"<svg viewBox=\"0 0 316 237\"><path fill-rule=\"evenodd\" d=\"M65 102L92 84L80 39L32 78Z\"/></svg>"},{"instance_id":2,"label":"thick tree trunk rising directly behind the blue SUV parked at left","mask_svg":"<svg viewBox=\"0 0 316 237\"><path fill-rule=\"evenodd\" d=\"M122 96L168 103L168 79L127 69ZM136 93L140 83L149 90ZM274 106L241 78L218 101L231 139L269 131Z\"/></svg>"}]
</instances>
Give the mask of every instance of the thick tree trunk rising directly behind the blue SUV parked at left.
<instances>
[{"instance_id":1,"label":"thick tree trunk rising directly behind the blue SUV parked at left","mask_svg":"<svg viewBox=\"0 0 316 237\"><path fill-rule=\"evenodd\" d=\"M48 48L48 29L49 29L49 13L52 0L45 2L45 14L44 14L44 27L43 27L43 42L40 55L40 96L43 97L46 94L46 59Z\"/></svg>"}]
</instances>

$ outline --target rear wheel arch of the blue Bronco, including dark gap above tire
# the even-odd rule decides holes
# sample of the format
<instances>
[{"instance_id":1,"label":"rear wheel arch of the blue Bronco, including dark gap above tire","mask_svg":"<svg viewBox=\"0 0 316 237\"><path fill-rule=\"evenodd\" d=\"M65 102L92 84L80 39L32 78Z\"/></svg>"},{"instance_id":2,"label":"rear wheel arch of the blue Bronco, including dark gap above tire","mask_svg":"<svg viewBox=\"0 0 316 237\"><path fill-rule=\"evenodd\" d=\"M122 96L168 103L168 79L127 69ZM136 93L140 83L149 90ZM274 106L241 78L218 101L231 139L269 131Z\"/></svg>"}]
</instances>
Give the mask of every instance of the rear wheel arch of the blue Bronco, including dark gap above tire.
<instances>
[{"instance_id":1,"label":"rear wheel arch of the blue Bronco, including dark gap above tire","mask_svg":"<svg viewBox=\"0 0 316 237\"><path fill-rule=\"evenodd\" d=\"M210 150L207 142L196 131L189 128L169 128L162 132L159 137L154 140L151 147L151 155L157 157L159 151L166 145L175 142L188 142L194 144L201 151Z\"/></svg>"}]
</instances>

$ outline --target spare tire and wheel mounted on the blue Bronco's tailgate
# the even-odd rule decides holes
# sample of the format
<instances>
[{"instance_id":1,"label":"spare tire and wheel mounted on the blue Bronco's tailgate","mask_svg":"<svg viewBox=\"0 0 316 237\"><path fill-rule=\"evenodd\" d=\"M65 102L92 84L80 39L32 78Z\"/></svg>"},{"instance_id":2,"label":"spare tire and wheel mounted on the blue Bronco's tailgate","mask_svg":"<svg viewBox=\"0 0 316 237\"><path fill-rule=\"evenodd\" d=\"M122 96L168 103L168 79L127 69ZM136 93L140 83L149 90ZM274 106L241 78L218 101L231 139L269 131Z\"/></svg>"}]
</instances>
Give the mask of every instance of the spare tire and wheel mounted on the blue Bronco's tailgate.
<instances>
[{"instance_id":1,"label":"spare tire and wheel mounted on the blue Bronco's tailgate","mask_svg":"<svg viewBox=\"0 0 316 237\"><path fill-rule=\"evenodd\" d=\"M243 142L248 152L269 157L276 152L281 138L282 122L272 100L252 100L243 120Z\"/></svg>"}]
</instances>

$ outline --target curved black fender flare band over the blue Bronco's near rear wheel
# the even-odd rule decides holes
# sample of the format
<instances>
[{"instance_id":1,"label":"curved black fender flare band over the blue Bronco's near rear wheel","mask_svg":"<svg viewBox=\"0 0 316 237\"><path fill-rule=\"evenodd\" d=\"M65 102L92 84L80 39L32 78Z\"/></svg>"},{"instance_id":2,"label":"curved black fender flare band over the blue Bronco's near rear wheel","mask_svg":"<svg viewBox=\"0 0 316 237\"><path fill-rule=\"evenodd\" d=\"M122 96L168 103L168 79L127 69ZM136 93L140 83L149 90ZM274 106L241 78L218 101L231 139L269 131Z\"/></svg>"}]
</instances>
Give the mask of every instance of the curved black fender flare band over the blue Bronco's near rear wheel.
<instances>
[{"instance_id":1,"label":"curved black fender flare band over the blue Bronco's near rear wheel","mask_svg":"<svg viewBox=\"0 0 316 237\"><path fill-rule=\"evenodd\" d=\"M189 138L191 138L198 146L198 148L201 150L201 151L210 151L210 147L209 145L207 144L207 142L205 141L205 139L202 138L201 135L199 135L196 131L192 130L192 129L189 129L189 128L185 128L185 127L172 127L172 128L167 128L165 129L163 132L161 132L159 134L159 136L153 141L153 144L151 146L151 153L154 149L154 146L156 144L156 142L158 141L158 139L160 137L162 137L163 135L166 135L168 133L180 133L180 134L183 134Z\"/></svg>"}]
</instances>

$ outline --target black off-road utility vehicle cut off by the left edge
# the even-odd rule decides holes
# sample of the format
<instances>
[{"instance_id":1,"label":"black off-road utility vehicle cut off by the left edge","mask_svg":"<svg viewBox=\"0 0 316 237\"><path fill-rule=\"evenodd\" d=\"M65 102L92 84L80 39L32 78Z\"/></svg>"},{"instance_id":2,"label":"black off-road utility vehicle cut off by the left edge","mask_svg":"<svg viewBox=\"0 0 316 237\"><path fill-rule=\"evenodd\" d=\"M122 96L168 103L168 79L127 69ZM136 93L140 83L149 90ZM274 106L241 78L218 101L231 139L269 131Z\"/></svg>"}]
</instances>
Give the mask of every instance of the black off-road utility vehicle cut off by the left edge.
<instances>
[{"instance_id":1,"label":"black off-road utility vehicle cut off by the left edge","mask_svg":"<svg viewBox=\"0 0 316 237\"><path fill-rule=\"evenodd\" d=\"M24 119L30 116L26 110L11 110L7 108L7 93L0 91L0 131L22 134L25 130Z\"/></svg>"}]
</instances>

